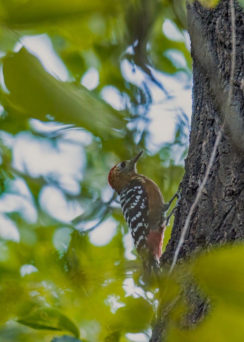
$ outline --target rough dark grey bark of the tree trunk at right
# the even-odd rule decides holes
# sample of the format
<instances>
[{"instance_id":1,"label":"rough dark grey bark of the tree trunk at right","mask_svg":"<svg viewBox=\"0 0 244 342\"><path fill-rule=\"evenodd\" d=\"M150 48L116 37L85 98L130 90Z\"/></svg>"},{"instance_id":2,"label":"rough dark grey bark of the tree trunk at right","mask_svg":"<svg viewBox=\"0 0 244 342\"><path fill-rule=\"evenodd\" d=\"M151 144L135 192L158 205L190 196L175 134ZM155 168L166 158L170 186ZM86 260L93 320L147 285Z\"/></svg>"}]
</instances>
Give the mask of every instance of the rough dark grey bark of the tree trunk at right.
<instances>
[{"instance_id":1,"label":"rough dark grey bark of the tree trunk at right","mask_svg":"<svg viewBox=\"0 0 244 342\"><path fill-rule=\"evenodd\" d=\"M236 63L230 108L235 113L235 122L228 120L178 261L213 245L244 239L244 132L241 130L244 118L244 14L237 1L234 1L234 8ZM230 1L222 0L214 9L204 8L198 1L187 3L187 15L193 59L190 146L185 161L181 207L177 210L171 239L161 257L163 268L172 263L181 229L223 122L231 69ZM237 128L239 132L235 134ZM182 300L190 307L190 313L182 315L181 328L189 329L200 324L208 305L193 283L184 286ZM167 321L160 317L150 342L166 340Z\"/></svg>"}]
</instances>

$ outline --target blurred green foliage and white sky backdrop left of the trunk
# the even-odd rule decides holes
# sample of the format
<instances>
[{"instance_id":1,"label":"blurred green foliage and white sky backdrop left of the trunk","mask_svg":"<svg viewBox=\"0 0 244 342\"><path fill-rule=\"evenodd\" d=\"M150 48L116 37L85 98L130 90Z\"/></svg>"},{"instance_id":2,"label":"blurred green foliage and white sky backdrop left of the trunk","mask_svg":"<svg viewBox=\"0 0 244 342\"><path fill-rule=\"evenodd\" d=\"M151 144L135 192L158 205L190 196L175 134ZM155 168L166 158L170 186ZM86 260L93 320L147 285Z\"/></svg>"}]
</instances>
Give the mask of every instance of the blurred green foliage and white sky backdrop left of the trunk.
<instances>
[{"instance_id":1,"label":"blurred green foliage and white sky backdrop left of the trunk","mask_svg":"<svg viewBox=\"0 0 244 342\"><path fill-rule=\"evenodd\" d=\"M0 340L148 341L157 284L107 177L145 149L138 171L178 188L185 2L1 0L0 22Z\"/></svg>"}]
</instances>

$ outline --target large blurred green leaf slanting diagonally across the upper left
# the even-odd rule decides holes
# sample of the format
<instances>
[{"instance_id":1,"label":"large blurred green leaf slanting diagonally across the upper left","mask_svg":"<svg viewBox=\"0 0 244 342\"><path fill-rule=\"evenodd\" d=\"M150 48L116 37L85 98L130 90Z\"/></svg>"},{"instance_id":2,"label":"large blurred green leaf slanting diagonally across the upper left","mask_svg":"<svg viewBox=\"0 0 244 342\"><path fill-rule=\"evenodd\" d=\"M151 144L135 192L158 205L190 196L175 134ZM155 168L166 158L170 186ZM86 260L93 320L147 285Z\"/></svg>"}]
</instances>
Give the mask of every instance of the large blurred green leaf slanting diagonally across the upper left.
<instances>
[{"instance_id":1,"label":"large blurred green leaf slanting diagonally across the upper left","mask_svg":"<svg viewBox=\"0 0 244 342\"><path fill-rule=\"evenodd\" d=\"M10 91L10 115L74 124L106 138L119 136L126 121L121 112L96 98L85 87L60 82L48 74L25 48L4 58L4 82Z\"/></svg>"}]
</instances>

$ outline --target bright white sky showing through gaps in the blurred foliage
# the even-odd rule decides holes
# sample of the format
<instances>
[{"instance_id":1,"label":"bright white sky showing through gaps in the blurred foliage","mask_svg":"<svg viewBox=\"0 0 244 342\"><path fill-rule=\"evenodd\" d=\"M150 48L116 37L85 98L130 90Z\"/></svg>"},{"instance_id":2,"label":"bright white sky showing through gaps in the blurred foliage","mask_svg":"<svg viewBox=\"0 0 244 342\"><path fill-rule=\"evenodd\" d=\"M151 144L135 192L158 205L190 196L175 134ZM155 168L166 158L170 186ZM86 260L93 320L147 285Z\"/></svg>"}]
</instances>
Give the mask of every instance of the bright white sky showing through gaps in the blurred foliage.
<instances>
[{"instance_id":1,"label":"bright white sky showing through gaps in the blurred foliage","mask_svg":"<svg viewBox=\"0 0 244 342\"><path fill-rule=\"evenodd\" d=\"M185 32L182 35L170 20L167 19L165 21L163 31L169 39L184 41L188 49L190 49L188 33ZM51 75L59 80L69 81L66 66L56 55L52 42L47 35L25 36L21 39L21 42L16 44L15 51L21 49L22 46L36 55L46 71ZM172 58L175 58L177 63L185 63L184 57L181 55L173 56ZM152 70L154 78L167 89L169 96L166 96L164 91L153 83L149 77L145 76L139 68L135 67L132 71L132 66L129 62L123 61L121 69L126 80L138 86L142 86L146 80L147 86L151 91L152 105L147 114L150 134L146 144L149 153L157 153L163 143L173 141L177 115L181 112L185 113L190 123L192 78L184 72L171 76ZM96 88L99 83L98 71L95 68L87 70L81 79L81 83L89 90ZM125 108L126 97L121 96L112 86L103 88L101 97L116 109ZM142 131L145 124L148 125L144 120L137 122L138 130ZM36 131L42 133L49 132L49 134L58 129L56 123L43 123L34 119L31 119L30 126ZM189 130L189 126L186 129ZM186 134L188 135L189 132L186 132ZM42 208L54 218L68 224L76 216L80 215L84 208L81 208L77 203L67 203L62 188L70 194L79 194L82 168L85 165L83 146L88 145L92 137L89 133L79 130L67 130L63 137L64 139L58 140L58 152L49 140L33 136L28 132L22 132L16 136L5 135L3 138L12 147L14 168L21 172L28 171L28 173L35 177L41 175L50 177L52 174L58 175L60 188L52 185L44 186L40 193L40 203ZM69 141L69 139L72 141ZM74 144L74 141L79 142L79 144ZM17 241L19 239L17 227L4 215L4 212L17 210L31 222L37 220L37 213L33 207L33 200L31 194L27 191L26 184L21 179L17 179L16 183L18 183L18 193L14 195L15 197L7 194L0 197L0 226L8 226L8 229L4 229L4 232L2 231L3 229L0 229L0 235ZM110 197L112 190L108 189L107 193ZM23 195L25 196L24 198ZM105 230L106 234L104 234ZM90 234L90 239L94 245L105 245L114 234L116 234L116 223L111 219L101 223L94 229ZM130 241L129 236L125 236L125 240L129 247L128 253L133 258L134 256L131 254L131 250L134 248L133 243Z\"/></svg>"}]
</instances>

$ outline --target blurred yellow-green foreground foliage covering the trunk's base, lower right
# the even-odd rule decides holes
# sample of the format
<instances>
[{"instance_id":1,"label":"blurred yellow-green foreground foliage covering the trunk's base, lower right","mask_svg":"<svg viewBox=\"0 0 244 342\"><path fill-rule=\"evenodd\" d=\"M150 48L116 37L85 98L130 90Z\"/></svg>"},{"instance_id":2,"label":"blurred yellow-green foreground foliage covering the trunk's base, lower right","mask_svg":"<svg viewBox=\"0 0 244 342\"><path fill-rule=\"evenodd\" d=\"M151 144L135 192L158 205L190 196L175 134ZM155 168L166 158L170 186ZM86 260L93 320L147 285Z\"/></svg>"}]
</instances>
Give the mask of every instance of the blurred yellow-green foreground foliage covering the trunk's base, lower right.
<instances>
[{"instance_id":1,"label":"blurred yellow-green foreground foliage covering the trunk's base, lower right","mask_svg":"<svg viewBox=\"0 0 244 342\"><path fill-rule=\"evenodd\" d=\"M241 341L244 299L243 246L225 247L199 257L187 272L194 275L203 296L211 300L211 312L194 330L184 331L171 322L169 341ZM184 266L185 267L185 266ZM183 268L184 268L183 267ZM186 271L186 269L185 269Z\"/></svg>"}]
</instances>

